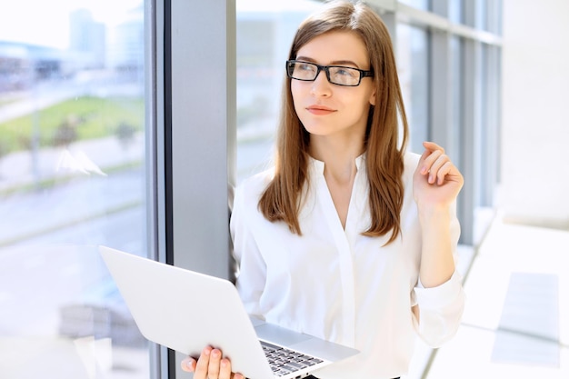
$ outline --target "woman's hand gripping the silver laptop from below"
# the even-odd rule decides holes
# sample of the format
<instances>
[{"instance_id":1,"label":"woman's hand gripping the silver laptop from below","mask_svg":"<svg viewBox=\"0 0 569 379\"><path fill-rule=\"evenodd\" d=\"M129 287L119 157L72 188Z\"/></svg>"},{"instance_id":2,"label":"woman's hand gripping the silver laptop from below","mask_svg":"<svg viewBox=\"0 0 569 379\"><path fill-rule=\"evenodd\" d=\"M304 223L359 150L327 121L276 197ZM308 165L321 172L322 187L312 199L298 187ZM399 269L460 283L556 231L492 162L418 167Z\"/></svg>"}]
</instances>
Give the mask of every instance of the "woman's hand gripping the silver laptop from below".
<instances>
[{"instance_id":1,"label":"woman's hand gripping the silver laptop from below","mask_svg":"<svg viewBox=\"0 0 569 379\"><path fill-rule=\"evenodd\" d=\"M197 361L188 356L182 361L182 370L194 373L194 379L245 379L242 374L231 372L231 361L224 358L219 349L206 346Z\"/></svg>"}]
</instances>

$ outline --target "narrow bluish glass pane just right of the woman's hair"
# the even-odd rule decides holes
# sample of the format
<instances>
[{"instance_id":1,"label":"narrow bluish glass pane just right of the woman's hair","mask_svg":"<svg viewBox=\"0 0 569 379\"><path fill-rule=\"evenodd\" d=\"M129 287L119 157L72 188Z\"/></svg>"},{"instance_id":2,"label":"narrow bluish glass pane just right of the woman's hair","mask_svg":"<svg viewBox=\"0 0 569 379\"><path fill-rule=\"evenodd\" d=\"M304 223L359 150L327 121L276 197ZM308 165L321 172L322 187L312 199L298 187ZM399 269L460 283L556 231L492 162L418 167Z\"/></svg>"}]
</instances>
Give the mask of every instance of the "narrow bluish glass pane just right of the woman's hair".
<instances>
[{"instance_id":1,"label":"narrow bluish glass pane just right of the woman's hair","mask_svg":"<svg viewBox=\"0 0 569 379\"><path fill-rule=\"evenodd\" d=\"M410 128L409 148L423 152L429 138L429 51L428 32L422 28L397 25L397 70Z\"/></svg>"}]
</instances>

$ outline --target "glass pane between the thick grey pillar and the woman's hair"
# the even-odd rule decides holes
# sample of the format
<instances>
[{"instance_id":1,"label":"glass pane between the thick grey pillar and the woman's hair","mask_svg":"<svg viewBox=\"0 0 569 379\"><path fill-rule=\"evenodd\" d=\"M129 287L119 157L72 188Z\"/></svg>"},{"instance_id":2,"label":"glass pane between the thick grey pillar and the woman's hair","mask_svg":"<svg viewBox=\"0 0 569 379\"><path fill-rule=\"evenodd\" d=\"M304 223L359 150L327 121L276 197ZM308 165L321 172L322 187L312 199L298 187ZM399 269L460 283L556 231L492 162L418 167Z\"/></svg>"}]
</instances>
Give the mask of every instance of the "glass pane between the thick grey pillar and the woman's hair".
<instances>
[{"instance_id":1,"label":"glass pane between the thick grey pillar and the woman's hair","mask_svg":"<svg viewBox=\"0 0 569 379\"><path fill-rule=\"evenodd\" d=\"M309 0L237 0L237 180L272 158L284 62L296 28L314 9Z\"/></svg>"}]
</instances>

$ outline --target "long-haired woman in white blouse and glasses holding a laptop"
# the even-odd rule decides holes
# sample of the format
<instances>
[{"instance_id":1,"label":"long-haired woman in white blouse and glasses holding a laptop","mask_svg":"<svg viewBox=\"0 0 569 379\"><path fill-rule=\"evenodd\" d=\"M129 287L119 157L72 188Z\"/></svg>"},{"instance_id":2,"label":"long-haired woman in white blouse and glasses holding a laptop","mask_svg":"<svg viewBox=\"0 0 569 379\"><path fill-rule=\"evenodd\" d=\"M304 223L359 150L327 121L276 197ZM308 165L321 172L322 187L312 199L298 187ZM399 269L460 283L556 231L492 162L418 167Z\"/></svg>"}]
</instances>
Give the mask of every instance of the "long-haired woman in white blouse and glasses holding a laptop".
<instances>
[{"instance_id":1,"label":"long-haired woman in white blouse and glasses holding a laptop","mask_svg":"<svg viewBox=\"0 0 569 379\"><path fill-rule=\"evenodd\" d=\"M398 377L414 335L439 346L460 322L463 177L434 143L405 152L393 48L367 6L305 20L286 73L275 168L235 194L237 288L250 314L361 351L315 376ZM196 379L243 377L210 346L182 365Z\"/></svg>"}]
</instances>

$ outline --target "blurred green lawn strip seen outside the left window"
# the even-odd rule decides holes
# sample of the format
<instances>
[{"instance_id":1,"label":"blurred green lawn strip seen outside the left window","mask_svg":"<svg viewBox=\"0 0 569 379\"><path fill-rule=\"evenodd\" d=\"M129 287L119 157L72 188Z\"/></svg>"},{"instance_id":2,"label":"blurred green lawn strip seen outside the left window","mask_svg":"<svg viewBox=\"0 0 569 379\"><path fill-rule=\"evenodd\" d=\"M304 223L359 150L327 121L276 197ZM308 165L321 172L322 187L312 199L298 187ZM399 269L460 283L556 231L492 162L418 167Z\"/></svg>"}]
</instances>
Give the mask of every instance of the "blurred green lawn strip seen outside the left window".
<instances>
[{"instance_id":1,"label":"blurred green lawn strip seen outside the left window","mask_svg":"<svg viewBox=\"0 0 569 379\"><path fill-rule=\"evenodd\" d=\"M77 97L0 123L0 155L29 149L34 131L40 146L52 146L116 135L119 125L143 129L143 98Z\"/></svg>"}]
</instances>

